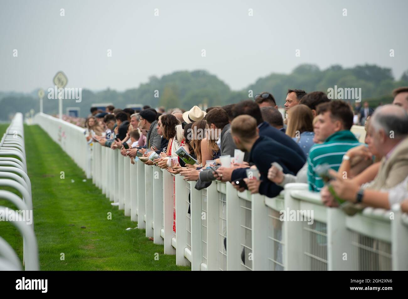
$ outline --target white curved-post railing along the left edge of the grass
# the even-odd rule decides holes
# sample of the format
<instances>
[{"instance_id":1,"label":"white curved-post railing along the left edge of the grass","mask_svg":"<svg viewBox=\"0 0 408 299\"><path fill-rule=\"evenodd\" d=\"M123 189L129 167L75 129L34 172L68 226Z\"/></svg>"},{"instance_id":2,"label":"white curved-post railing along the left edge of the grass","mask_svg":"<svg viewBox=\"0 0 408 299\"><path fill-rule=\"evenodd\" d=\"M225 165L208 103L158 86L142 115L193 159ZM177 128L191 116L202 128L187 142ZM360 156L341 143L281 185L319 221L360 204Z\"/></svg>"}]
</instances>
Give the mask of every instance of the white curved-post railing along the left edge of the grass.
<instances>
[{"instance_id":1,"label":"white curved-post railing along the left edge of the grass","mask_svg":"<svg viewBox=\"0 0 408 299\"><path fill-rule=\"evenodd\" d=\"M0 199L15 206L0 206L0 221L9 221L23 238L22 264L14 249L0 236L0 271L39 270L38 245L34 233L31 181L27 175L22 113L16 113L0 141ZM0 229L0 232L3 231Z\"/></svg>"}]
</instances>

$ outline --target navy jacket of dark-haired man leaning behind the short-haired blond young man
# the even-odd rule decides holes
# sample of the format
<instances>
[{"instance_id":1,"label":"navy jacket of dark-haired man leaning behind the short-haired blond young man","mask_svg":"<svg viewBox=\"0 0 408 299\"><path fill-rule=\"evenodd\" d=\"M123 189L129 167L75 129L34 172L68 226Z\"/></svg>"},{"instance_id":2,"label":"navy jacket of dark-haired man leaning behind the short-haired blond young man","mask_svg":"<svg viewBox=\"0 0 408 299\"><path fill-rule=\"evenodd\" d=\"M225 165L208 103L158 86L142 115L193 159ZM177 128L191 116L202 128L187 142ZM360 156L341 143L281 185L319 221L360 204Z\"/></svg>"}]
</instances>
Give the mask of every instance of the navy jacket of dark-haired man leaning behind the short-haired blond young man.
<instances>
[{"instance_id":1,"label":"navy jacket of dark-haired man leaning behind the short-haired blond young man","mask_svg":"<svg viewBox=\"0 0 408 299\"><path fill-rule=\"evenodd\" d=\"M300 146L296 142L294 142L291 137L289 137L282 131L275 129L267 122L262 122L261 124L259 124L258 128L259 128L259 136L267 136L273 139L275 142L283 146L286 146L287 148L290 148L292 151L295 151L300 157L302 157L304 159L303 164L300 166L302 168L302 166L306 162L306 155L302 151L302 148L300 148ZM268 167L271 167L271 163L269 163ZM246 168L238 168L232 172L231 181L239 181L243 179L244 177L246 177Z\"/></svg>"}]
</instances>

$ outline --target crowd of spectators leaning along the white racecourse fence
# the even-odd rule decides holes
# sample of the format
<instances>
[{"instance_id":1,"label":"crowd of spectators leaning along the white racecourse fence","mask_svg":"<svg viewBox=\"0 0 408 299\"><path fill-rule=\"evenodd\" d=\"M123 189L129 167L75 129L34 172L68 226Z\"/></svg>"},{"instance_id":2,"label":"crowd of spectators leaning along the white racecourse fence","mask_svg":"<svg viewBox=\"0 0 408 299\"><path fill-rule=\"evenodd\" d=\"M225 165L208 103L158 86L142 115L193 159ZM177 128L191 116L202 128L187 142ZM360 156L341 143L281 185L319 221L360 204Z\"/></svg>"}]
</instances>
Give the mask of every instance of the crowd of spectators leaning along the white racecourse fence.
<instances>
[{"instance_id":1,"label":"crowd of spectators leaning along the white racecourse fence","mask_svg":"<svg viewBox=\"0 0 408 299\"><path fill-rule=\"evenodd\" d=\"M269 92L206 111L109 106L91 109L85 137L133 164L138 159L197 181L198 190L219 180L274 197L299 182L347 213L396 203L408 212L408 87L393 96L392 105L373 109L289 89L283 114ZM364 143L353 124L364 124Z\"/></svg>"}]
</instances>

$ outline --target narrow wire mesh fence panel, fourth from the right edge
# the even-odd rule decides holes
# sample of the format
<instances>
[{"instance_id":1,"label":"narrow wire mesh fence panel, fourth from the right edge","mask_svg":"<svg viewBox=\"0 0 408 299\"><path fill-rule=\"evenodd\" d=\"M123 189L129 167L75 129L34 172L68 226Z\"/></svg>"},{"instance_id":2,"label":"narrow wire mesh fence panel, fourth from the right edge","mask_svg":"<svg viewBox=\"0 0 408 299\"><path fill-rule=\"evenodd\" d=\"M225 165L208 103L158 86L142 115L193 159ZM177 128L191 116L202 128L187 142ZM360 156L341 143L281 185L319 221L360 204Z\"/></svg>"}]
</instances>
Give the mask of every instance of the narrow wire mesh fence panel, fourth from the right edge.
<instances>
[{"instance_id":1,"label":"narrow wire mesh fence panel, fourth from the right edge","mask_svg":"<svg viewBox=\"0 0 408 299\"><path fill-rule=\"evenodd\" d=\"M241 202L241 268L243 271L252 270L252 203L246 199Z\"/></svg>"}]
</instances>

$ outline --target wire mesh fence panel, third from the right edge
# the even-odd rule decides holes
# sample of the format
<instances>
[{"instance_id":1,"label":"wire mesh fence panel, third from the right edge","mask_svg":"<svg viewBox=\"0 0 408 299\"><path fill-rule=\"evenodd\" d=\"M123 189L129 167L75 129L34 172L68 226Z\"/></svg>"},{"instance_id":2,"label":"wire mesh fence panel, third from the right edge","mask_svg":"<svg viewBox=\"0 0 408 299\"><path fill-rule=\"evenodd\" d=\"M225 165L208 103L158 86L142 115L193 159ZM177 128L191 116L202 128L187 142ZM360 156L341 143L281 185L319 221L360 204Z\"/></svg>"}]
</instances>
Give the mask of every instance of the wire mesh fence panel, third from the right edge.
<instances>
[{"instance_id":1,"label":"wire mesh fence panel, third from the right edge","mask_svg":"<svg viewBox=\"0 0 408 299\"><path fill-rule=\"evenodd\" d=\"M268 207L269 218L269 270L270 271L283 271L283 221L279 219L280 213L277 210Z\"/></svg>"}]
</instances>

